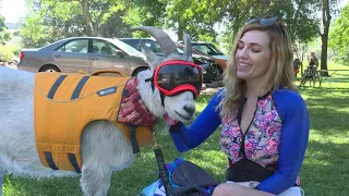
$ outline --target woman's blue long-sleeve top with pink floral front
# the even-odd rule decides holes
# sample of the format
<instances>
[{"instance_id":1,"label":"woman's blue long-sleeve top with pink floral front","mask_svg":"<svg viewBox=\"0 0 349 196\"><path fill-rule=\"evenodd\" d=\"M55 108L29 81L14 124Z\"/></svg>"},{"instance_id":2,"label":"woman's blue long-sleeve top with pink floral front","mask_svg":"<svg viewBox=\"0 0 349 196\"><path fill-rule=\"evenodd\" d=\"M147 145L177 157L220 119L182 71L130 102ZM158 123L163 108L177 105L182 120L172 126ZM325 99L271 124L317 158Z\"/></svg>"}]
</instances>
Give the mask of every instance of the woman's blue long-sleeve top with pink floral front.
<instances>
[{"instance_id":1,"label":"woman's blue long-sleeve top with pink floral front","mask_svg":"<svg viewBox=\"0 0 349 196\"><path fill-rule=\"evenodd\" d=\"M221 124L221 149L231 163L242 158L239 149L243 137L237 118L221 119L216 110L222 90L212 98L189 127L179 123L170 128L179 151L195 148ZM258 189L278 195L294 185L304 159L309 131L306 105L298 93L280 88L258 97L254 118L245 133L244 152L248 159L263 167L278 166L273 175L258 184Z\"/></svg>"}]
</instances>

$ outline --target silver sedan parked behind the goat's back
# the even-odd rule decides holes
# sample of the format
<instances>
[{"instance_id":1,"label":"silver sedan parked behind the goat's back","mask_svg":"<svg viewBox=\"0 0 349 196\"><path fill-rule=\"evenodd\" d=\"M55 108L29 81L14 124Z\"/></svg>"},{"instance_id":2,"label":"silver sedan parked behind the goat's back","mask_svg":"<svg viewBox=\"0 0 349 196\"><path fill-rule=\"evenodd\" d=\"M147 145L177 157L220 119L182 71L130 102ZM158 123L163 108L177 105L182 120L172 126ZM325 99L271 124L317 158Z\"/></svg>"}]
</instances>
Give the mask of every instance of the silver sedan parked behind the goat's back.
<instances>
[{"instance_id":1,"label":"silver sedan parked behind the goat's back","mask_svg":"<svg viewBox=\"0 0 349 196\"><path fill-rule=\"evenodd\" d=\"M135 75L147 69L143 53L118 40L100 37L71 37L38 49L23 49L20 70L29 72L118 70Z\"/></svg>"}]
</instances>

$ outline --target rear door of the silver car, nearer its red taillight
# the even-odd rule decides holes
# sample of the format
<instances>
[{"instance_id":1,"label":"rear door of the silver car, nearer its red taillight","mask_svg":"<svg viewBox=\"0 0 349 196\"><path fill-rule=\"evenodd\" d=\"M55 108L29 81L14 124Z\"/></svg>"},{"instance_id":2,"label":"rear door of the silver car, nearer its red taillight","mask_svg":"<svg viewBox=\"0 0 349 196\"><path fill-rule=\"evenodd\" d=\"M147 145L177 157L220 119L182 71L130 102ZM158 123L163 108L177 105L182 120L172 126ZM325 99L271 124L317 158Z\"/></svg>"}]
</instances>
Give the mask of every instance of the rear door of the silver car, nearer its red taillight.
<instances>
[{"instance_id":1,"label":"rear door of the silver car, nearer its red taillight","mask_svg":"<svg viewBox=\"0 0 349 196\"><path fill-rule=\"evenodd\" d=\"M88 39L79 38L64 42L52 52L52 59L64 72L89 72Z\"/></svg>"}]
</instances>

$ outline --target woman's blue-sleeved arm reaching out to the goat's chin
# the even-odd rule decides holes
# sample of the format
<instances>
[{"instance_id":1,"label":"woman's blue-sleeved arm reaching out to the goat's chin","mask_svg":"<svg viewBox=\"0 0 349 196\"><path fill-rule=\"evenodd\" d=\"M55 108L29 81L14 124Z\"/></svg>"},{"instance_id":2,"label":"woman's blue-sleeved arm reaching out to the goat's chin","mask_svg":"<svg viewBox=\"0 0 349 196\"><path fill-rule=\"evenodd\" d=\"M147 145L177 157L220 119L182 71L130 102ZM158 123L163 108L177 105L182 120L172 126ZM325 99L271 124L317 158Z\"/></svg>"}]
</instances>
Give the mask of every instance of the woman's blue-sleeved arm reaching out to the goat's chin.
<instances>
[{"instance_id":1,"label":"woman's blue-sleeved arm reaching out to the goat's chin","mask_svg":"<svg viewBox=\"0 0 349 196\"><path fill-rule=\"evenodd\" d=\"M221 91L221 90L220 90ZM218 91L198 114L194 122L186 127L178 123L170 127L170 135L179 151L188 151L203 143L220 124L220 118L216 106L220 101Z\"/></svg>"}]
</instances>

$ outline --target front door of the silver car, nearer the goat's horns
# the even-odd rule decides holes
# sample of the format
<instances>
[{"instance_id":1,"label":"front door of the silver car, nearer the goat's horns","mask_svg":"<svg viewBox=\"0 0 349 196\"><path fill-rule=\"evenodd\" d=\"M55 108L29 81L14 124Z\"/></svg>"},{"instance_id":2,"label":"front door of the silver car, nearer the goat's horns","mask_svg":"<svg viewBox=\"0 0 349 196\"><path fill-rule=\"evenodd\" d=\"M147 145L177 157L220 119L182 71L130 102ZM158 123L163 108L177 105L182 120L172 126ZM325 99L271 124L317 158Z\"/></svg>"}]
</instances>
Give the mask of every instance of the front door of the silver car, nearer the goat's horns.
<instances>
[{"instance_id":1,"label":"front door of the silver car, nearer the goat's horns","mask_svg":"<svg viewBox=\"0 0 349 196\"><path fill-rule=\"evenodd\" d=\"M91 53L92 72L98 70L118 70L129 73L129 56L113 44L103 39L93 39Z\"/></svg>"}]
</instances>

